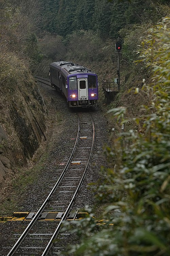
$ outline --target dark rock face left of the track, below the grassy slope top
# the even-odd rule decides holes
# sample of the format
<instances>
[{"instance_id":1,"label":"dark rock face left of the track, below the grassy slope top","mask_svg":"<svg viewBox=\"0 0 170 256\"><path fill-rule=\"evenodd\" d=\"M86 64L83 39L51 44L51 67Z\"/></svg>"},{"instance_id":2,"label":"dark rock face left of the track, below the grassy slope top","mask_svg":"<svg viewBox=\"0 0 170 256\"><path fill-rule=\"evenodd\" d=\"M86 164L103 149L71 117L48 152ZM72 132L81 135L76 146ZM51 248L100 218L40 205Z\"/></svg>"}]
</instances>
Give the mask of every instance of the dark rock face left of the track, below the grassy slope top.
<instances>
[{"instance_id":1,"label":"dark rock face left of the track, below the grassy slope top","mask_svg":"<svg viewBox=\"0 0 170 256\"><path fill-rule=\"evenodd\" d=\"M0 106L0 188L4 186L8 171L13 171L14 166L26 165L41 140L45 139L47 116L46 103L35 83L23 91L18 90L15 98L8 94L3 96Z\"/></svg>"}]
</instances>

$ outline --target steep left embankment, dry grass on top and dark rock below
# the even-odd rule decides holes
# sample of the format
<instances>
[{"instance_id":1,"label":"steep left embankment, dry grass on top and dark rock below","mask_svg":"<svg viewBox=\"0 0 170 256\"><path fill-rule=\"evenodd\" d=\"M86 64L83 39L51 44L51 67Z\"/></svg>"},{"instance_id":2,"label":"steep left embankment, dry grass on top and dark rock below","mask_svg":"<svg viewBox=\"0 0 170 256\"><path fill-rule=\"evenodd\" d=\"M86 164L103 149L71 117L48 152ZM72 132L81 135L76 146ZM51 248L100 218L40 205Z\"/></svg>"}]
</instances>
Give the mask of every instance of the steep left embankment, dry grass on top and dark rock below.
<instances>
[{"instance_id":1,"label":"steep left embankment, dry grass on top and dark rock below","mask_svg":"<svg viewBox=\"0 0 170 256\"><path fill-rule=\"evenodd\" d=\"M9 170L27 164L46 130L46 103L24 63L10 57L0 77L0 187Z\"/></svg>"}]
</instances>

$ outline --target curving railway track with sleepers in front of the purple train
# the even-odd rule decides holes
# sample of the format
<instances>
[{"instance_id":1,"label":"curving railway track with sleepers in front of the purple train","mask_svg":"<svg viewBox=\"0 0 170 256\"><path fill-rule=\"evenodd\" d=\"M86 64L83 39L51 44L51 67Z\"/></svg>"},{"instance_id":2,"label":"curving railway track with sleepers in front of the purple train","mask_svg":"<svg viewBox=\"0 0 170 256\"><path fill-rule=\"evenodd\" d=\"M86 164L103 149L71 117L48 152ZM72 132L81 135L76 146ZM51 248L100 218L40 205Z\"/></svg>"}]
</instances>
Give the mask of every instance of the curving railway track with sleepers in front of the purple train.
<instances>
[{"instance_id":1,"label":"curving railway track with sleepers in front of the purple train","mask_svg":"<svg viewBox=\"0 0 170 256\"><path fill-rule=\"evenodd\" d=\"M53 249L53 242L60 233L63 222L70 214L74 199L82 186L95 142L95 127L92 115L90 113L78 113L77 122L77 137L73 138L75 143L72 153L61 176L57 179L39 210L32 214L29 224L27 225L27 222L23 223L23 225L27 226L22 234L15 234L19 238L14 246L9 249L7 256L45 256L49 253L50 255L56 255L56 250L60 250L60 246L55 246ZM53 218L54 216L57 218L60 215L61 220L50 223L48 221L39 221L42 216L46 219L45 216L49 212L53 214ZM76 211L72 214L75 215ZM74 219L74 216L72 217ZM7 247L4 250L7 250Z\"/></svg>"}]
</instances>

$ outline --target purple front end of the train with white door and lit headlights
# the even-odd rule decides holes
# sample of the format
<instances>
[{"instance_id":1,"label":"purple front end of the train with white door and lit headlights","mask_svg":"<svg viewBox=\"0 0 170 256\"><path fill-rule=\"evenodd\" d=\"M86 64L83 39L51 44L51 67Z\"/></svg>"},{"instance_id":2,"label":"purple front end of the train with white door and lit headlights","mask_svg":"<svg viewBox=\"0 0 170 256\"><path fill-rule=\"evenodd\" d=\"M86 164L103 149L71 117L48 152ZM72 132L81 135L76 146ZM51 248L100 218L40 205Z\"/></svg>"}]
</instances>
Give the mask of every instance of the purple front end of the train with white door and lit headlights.
<instances>
[{"instance_id":1,"label":"purple front end of the train with white door and lit headlights","mask_svg":"<svg viewBox=\"0 0 170 256\"><path fill-rule=\"evenodd\" d=\"M69 107L98 105L98 78L95 73L69 75L67 86Z\"/></svg>"}]
</instances>

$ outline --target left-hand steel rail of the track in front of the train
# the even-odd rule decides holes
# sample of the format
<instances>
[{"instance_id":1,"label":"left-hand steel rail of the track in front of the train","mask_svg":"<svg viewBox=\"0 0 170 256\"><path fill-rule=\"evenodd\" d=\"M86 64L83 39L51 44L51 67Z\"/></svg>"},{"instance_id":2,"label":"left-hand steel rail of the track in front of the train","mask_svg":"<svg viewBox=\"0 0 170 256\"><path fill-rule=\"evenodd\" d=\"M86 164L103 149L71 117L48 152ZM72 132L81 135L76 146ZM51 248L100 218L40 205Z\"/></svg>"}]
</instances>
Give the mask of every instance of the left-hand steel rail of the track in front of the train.
<instances>
[{"instance_id":1,"label":"left-hand steel rail of the track in front of the train","mask_svg":"<svg viewBox=\"0 0 170 256\"><path fill-rule=\"evenodd\" d=\"M77 115L78 116L78 115ZM60 176L60 178L57 180L57 182L55 183L54 187L52 188L51 192L49 193L49 195L47 196L46 200L44 201L44 203L41 205L41 207L39 208L39 210L37 211L37 213L35 214L35 216L33 217L33 219L31 220L31 222L29 223L29 225L26 227L26 229L23 231L23 233L21 234L21 236L19 237L19 239L17 240L17 242L14 244L14 246L12 247L12 249L10 250L10 252L7 254L7 256L12 256L14 255L14 253L16 252L16 250L18 249L18 247L20 246L20 244L22 243L22 241L26 238L26 236L28 235L30 229L33 227L33 225L36 223L37 219L39 218L41 212L44 210L44 208L46 207L49 199L51 198L51 196L54 194L55 190L57 189L58 185L61 183L66 170L69 167L69 164L71 162L72 156L74 154L75 148L77 146L77 142L78 142L78 138L79 138L79 132L80 132L80 120L79 120L79 116L78 116L78 132L77 132L77 137L74 143L74 147L73 150L71 152L70 158Z\"/></svg>"}]
</instances>

